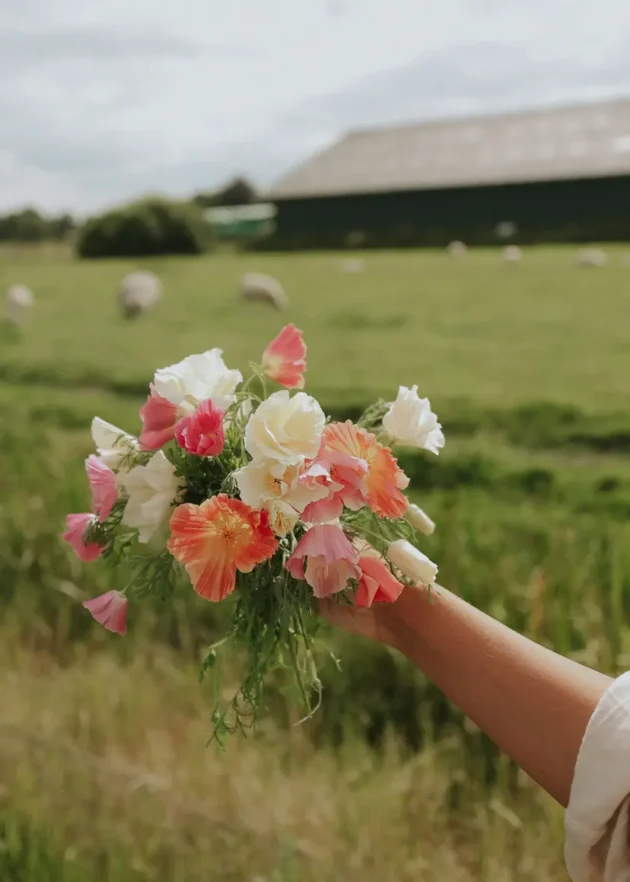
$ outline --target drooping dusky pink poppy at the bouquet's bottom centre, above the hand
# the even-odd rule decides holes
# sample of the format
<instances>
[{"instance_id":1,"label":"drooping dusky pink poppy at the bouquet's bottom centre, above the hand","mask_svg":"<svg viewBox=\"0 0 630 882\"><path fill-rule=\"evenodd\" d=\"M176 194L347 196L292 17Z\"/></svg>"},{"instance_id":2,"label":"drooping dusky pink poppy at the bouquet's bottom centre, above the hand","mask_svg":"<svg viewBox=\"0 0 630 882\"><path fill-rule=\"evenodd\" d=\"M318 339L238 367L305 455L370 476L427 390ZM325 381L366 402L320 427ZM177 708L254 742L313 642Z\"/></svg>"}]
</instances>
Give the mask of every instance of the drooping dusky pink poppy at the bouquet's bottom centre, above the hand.
<instances>
[{"instance_id":1,"label":"drooping dusky pink poppy at the bouquet's bottom centre, above the hand","mask_svg":"<svg viewBox=\"0 0 630 882\"><path fill-rule=\"evenodd\" d=\"M285 567L294 579L308 582L315 597L329 597L361 578L358 557L341 527L321 524L306 531Z\"/></svg>"}]
</instances>

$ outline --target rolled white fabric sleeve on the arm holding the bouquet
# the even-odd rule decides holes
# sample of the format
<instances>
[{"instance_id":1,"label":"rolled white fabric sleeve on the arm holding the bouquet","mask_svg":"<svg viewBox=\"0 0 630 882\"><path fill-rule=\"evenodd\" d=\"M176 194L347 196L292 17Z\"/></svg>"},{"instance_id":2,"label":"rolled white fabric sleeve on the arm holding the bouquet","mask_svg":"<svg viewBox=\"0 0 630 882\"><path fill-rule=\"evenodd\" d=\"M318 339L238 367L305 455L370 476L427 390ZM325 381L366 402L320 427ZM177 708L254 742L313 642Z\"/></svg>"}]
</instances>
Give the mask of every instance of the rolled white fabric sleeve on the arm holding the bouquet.
<instances>
[{"instance_id":1,"label":"rolled white fabric sleeve on the arm holding the bouquet","mask_svg":"<svg viewBox=\"0 0 630 882\"><path fill-rule=\"evenodd\" d=\"M573 882L630 882L630 672L609 686L590 719L565 817Z\"/></svg>"}]
</instances>

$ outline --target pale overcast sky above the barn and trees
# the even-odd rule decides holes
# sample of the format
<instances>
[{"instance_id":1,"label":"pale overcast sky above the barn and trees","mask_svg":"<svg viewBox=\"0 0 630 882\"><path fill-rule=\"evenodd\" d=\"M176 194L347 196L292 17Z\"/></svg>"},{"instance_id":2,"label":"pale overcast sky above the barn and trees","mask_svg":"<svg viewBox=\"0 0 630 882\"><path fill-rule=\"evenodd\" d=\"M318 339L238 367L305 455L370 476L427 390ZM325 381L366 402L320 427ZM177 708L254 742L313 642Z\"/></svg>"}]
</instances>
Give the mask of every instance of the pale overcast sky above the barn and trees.
<instances>
[{"instance_id":1,"label":"pale overcast sky above the barn and trees","mask_svg":"<svg viewBox=\"0 0 630 882\"><path fill-rule=\"evenodd\" d=\"M0 210L84 214L347 128L630 95L628 0L1 0Z\"/></svg>"}]
</instances>

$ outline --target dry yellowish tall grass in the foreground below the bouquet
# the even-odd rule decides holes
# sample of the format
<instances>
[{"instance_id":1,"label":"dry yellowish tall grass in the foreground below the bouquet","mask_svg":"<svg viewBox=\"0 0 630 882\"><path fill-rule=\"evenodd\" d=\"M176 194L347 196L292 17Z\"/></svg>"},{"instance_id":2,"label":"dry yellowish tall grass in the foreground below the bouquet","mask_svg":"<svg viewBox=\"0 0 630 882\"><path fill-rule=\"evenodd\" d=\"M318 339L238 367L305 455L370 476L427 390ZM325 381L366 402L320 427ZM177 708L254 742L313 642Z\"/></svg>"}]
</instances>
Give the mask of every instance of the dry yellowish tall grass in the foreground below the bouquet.
<instances>
[{"instance_id":1,"label":"dry yellowish tall grass in the foreground below the bouquet","mask_svg":"<svg viewBox=\"0 0 630 882\"><path fill-rule=\"evenodd\" d=\"M28 819L23 862L54 856L56 879L99 882L562 878L560 813L501 761L483 786L456 729L375 753L270 723L218 754L193 670L136 650L127 664L78 651L62 669L4 647L0 775Z\"/></svg>"}]
</instances>

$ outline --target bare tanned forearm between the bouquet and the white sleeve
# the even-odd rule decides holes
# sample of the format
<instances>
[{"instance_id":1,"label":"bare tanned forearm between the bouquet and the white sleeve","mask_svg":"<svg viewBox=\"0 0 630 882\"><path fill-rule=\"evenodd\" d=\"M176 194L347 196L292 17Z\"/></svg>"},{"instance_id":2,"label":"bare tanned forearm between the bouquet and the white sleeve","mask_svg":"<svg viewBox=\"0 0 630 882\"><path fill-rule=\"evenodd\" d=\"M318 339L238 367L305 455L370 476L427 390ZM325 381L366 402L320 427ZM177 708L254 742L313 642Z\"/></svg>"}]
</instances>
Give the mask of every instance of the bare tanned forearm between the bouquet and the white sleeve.
<instances>
[{"instance_id":1,"label":"bare tanned forearm between the bouquet and the white sleeve","mask_svg":"<svg viewBox=\"0 0 630 882\"><path fill-rule=\"evenodd\" d=\"M586 726L610 678L533 643L439 586L431 597L407 589L391 613L388 642L566 806Z\"/></svg>"}]
</instances>

